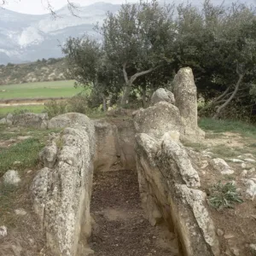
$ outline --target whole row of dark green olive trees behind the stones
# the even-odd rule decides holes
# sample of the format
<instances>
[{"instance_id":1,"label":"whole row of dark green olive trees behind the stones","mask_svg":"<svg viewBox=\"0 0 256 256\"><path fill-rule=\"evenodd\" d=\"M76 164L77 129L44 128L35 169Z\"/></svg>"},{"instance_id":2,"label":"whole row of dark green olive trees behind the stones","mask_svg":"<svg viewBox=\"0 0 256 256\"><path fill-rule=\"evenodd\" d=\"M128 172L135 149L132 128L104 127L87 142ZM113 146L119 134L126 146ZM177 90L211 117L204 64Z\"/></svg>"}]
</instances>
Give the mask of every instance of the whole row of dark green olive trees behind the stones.
<instances>
[{"instance_id":1,"label":"whole row of dark green olive trees behind the stones","mask_svg":"<svg viewBox=\"0 0 256 256\"><path fill-rule=\"evenodd\" d=\"M202 9L155 0L126 3L96 26L102 44L89 37L67 40L68 75L90 85L107 109L107 102L124 107L134 98L145 106L156 88L172 88L168 81L179 68L191 67L201 114L253 119L255 18L255 9L240 3L206 0Z\"/></svg>"}]
</instances>

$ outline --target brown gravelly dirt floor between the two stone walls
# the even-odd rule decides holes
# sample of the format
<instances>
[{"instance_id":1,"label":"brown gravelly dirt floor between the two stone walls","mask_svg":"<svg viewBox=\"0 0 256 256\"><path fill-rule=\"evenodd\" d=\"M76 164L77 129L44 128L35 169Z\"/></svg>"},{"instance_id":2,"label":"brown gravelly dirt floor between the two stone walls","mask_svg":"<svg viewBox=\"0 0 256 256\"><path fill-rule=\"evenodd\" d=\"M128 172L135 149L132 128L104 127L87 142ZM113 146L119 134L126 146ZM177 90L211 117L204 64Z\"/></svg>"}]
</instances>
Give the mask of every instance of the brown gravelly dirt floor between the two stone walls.
<instances>
[{"instance_id":1,"label":"brown gravelly dirt floor between the two stone walls","mask_svg":"<svg viewBox=\"0 0 256 256\"><path fill-rule=\"evenodd\" d=\"M179 255L174 234L144 218L136 172L96 173L91 212L96 225L90 247L96 256Z\"/></svg>"}]
</instances>

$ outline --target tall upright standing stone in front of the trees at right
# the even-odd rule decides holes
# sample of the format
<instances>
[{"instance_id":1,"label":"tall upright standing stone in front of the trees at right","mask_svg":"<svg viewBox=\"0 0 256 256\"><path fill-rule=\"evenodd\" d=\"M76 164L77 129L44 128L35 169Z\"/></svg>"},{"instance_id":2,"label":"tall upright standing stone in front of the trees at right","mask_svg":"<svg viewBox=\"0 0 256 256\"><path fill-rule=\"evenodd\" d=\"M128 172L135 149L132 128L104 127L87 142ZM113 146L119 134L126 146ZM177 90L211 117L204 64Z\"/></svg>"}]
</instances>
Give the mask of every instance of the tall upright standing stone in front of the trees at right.
<instances>
[{"instance_id":1,"label":"tall upright standing stone in front of the trees at right","mask_svg":"<svg viewBox=\"0 0 256 256\"><path fill-rule=\"evenodd\" d=\"M174 96L181 114L186 136L199 135L203 131L197 126L197 95L194 75L190 67L181 68L174 78Z\"/></svg>"}]
</instances>

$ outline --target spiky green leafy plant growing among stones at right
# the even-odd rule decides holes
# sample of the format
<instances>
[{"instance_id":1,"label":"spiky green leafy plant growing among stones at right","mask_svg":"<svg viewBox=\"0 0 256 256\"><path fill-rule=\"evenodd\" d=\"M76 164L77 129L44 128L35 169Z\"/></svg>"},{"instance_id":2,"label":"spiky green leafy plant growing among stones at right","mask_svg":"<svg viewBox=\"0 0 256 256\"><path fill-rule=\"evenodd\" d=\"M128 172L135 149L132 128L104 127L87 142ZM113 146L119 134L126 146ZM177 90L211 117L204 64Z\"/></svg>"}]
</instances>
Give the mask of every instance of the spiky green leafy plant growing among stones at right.
<instances>
[{"instance_id":1,"label":"spiky green leafy plant growing among stones at right","mask_svg":"<svg viewBox=\"0 0 256 256\"><path fill-rule=\"evenodd\" d=\"M218 210L233 208L236 203L243 202L234 183L218 182L212 186L209 192L208 203Z\"/></svg>"}]
</instances>

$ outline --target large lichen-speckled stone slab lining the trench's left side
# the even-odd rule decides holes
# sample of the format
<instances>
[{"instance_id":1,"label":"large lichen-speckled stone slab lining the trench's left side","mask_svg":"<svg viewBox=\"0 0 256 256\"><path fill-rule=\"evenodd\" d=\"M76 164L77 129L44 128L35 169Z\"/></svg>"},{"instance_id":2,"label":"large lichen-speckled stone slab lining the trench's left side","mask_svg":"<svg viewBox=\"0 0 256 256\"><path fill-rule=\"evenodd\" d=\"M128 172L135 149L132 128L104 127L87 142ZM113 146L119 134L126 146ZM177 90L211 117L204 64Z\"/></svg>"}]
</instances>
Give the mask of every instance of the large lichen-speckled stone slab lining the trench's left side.
<instances>
[{"instance_id":1,"label":"large lichen-speckled stone slab lining the trench's left side","mask_svg":"<svg viewBox=\"0 0 256 256\"><path fill-rule=\"evenodd\" d=\"M44 148L40 154L44 168L32 182L34 209L54 255L86 255L88 251L84 243L90 236L95 128L86 116L78 117L80 125L66 128Z\"/></svg>"}]
</instances>

